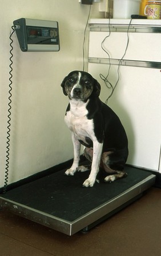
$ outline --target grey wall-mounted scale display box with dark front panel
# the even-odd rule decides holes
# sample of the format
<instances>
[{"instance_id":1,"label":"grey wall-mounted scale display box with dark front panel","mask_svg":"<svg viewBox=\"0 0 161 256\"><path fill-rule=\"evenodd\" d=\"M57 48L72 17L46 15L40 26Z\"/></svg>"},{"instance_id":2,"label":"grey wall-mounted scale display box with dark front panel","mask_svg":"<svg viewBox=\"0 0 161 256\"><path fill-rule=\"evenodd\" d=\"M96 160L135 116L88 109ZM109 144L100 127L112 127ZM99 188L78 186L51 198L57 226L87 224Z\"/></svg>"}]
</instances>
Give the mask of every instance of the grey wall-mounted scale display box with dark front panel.
<instances>
[{"instance_id":1,"label":"grey wall-mounted scale display box with dark front panel","mask_svg":"<svg viewBox=\"0 0 161 256\"><path fill-rule=\"evenodd\" d=\"M58 52L57 21L20 18L13 22L22 52Z\"/></svg>"}]
</instances>

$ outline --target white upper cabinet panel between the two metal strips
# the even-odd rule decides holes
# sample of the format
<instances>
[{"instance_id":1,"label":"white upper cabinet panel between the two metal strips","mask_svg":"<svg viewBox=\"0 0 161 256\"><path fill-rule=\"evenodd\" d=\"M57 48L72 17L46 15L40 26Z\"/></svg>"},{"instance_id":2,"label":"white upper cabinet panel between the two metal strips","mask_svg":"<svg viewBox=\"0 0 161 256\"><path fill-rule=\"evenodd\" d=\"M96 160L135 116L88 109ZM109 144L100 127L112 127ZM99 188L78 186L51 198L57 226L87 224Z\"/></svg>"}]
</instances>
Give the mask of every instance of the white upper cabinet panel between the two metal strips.
<instances>
[{"instance_id":1,"label":"white upper cabinet panel between the two metal strips","mask_svg":"<svg viewBox=\"0 0 161 256\"><path fill-rule=\"evenodd\" d=\"M90 31L89 57L108 58L101 48L101 43L108 35L104 31ZM112 32L104 41L104 47L110 58L123 57L127 45L127 33ZM129 44L125 60L156 61L161 60L160 33L129 33Z\"/></svg>"}]
</instances>

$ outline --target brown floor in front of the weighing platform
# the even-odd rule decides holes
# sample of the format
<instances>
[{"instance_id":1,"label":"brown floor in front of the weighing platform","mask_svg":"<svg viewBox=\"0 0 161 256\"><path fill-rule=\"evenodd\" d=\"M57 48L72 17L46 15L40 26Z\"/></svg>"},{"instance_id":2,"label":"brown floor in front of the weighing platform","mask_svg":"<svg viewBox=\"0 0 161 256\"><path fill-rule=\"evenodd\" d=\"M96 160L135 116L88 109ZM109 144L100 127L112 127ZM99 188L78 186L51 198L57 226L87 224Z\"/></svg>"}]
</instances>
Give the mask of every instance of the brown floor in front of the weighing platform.
<instances>
[{"instance_id":1,"label":"brown floor in front of the weighing platform","mask_svg":"<svg viewBox=\"0 0 161 256\"><path fill-rule=\"evenodd\" d=\"M160 256L161 190L142 198L86 234L68 235L0 211L2 256Z\"/></svg>"}]
</instances>

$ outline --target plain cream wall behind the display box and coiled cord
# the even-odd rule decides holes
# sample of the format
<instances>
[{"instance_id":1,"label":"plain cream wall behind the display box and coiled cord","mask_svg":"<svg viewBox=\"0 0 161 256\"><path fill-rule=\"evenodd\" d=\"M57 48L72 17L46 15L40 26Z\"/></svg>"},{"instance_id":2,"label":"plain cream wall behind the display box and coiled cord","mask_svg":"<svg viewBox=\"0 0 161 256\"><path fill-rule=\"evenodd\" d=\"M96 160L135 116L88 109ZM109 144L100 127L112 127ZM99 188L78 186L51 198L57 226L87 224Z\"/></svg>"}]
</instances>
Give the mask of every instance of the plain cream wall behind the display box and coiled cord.
<instances>
[{"instance_id":1,"label":"plain cream wall behind the display box and coiled cord","mask_svg":"<svg viewBox=\"0 0 161 256\"><path fill-rule=\"evenodd\" d=\"M13 35L13 90L11 110L9 183L46 170L73 157L70 132L64 123L67 97L61 82L71 70L82 69L84 27L90 6L78 0L6 0L1 3L0 27L0 187L6 167L7 104L10 40L18 18L59 22L61 50L24 53ZM92 18L101 18L99 4ZM86 47L87 48L87 47ZM87 52L87 49L86 49Z\"/></svg>"}]
</instances>

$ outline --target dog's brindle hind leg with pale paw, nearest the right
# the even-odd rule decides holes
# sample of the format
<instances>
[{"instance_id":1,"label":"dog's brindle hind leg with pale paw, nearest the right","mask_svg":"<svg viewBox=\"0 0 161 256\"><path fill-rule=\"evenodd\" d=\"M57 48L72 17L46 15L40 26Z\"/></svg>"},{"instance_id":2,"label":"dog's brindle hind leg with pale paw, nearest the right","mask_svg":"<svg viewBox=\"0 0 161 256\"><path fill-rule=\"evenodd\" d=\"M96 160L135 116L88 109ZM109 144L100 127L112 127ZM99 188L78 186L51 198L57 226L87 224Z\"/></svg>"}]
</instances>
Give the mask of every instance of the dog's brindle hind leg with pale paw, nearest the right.
<instances>
[{"instance_id":1,"label":"dog's brindle hind leg with pale paw, nearest the right","mask_svg":"<svg viewBox=\"0 0 161 256\"><path fill-rule=\"evenodd\" d=\"M104 182L108 182L108 183L114 182L114 180L117 180L117 179L127 177L127 173L122 170L122 168L124 166L123 161L119 160L119 162L116 162L116 157L115 156L112 157L112 154L113 154L113 152L104 152L104 153L102 153L102 157L101 157L101 167L103 167L103 169L108 174L111 174L111 175L106 176L106 178L104 179ZM120 167L120 170L114 170L112 167L110 167L111 159L112 159L113 164L114 164L114 160L115 160L115 166Z\"/></svg>"}]
</instances>

